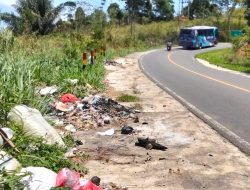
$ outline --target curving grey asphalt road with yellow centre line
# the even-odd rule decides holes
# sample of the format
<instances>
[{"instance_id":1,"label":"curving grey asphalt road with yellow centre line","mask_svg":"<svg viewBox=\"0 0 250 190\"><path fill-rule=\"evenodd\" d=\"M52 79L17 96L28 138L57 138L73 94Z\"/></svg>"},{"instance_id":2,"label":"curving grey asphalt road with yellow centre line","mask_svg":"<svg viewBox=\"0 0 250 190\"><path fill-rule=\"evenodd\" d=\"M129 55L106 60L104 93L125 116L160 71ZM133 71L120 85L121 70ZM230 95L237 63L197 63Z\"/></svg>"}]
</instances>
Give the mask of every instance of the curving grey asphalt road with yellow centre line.
<instances>
[{"instance_id":1,"label":"curving grey asphalt road with yellow centre line","mask_svg":"<svg viewBox=\"0 0 250 190\"><path fill-rule=\"evenodd\" d=\"M202 50L157 50L141 59L145 72L236 135L250 142L250 76L213 69L200 64Z\"/></svg>"}]
</instances>

